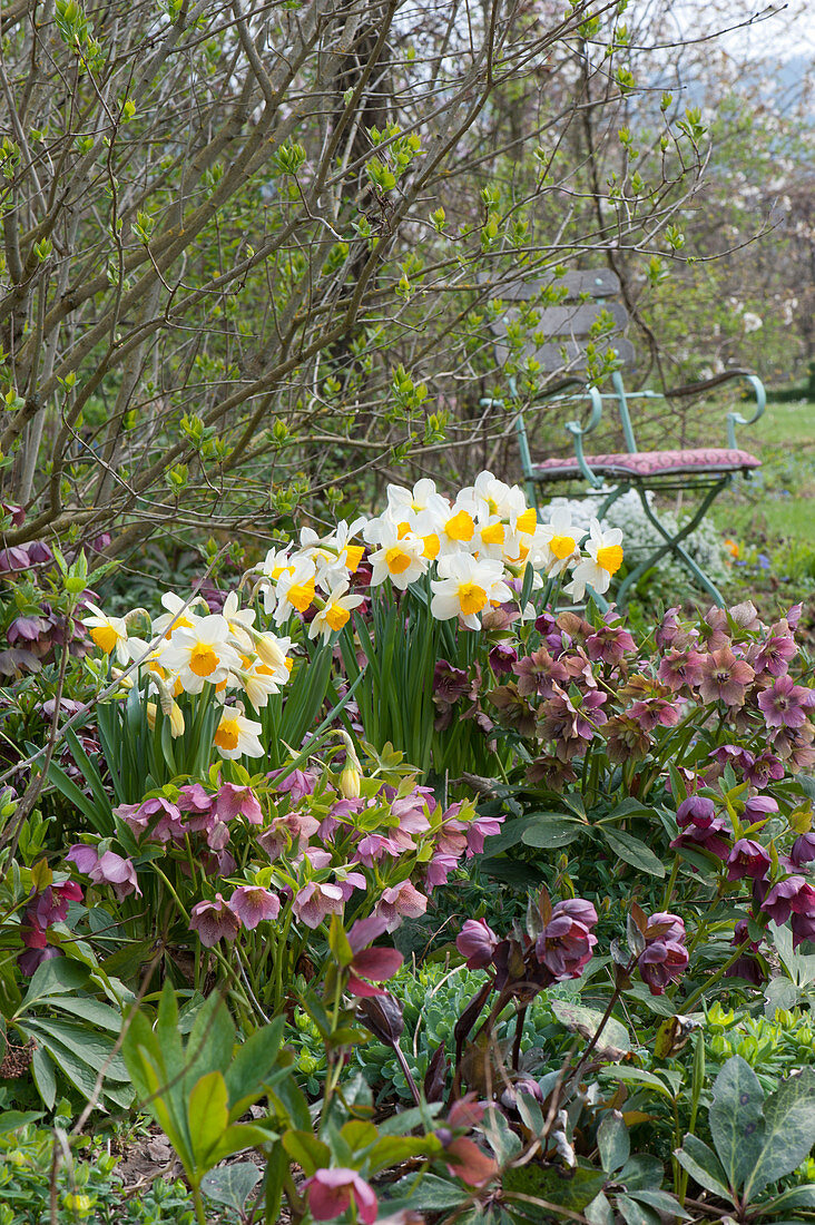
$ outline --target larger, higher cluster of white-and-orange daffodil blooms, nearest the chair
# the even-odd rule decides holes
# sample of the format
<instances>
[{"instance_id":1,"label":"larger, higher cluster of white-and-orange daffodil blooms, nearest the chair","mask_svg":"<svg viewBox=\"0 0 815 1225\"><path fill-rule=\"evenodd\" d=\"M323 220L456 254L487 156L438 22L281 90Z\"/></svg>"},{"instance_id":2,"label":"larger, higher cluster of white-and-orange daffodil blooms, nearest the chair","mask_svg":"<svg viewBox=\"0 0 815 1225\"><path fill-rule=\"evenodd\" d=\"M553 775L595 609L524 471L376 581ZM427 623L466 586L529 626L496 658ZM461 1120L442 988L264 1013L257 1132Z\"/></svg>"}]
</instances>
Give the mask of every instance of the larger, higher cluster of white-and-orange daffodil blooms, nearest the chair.
<instances>
[{"instance_id":1,"label":"larger, higher cluster of white-and-orange daffodil blooms, nearest the chair","mask_svg":"<svg viewBox=\"0 0 815 1225\"><path fill-rule=\"evenodd\" d=\"M473 485L450 501L433 480L413 489L387 486L387 506L381 514L341 522L333 532L317 537L310 528L300 533L300 545L272 549L259 567L266 612L278 626L293 611L317 612L309 633L330 637L348 621L360 595L348 594L353 575L368 548L371 587L390 582L398 590L425 579L430 583L430 611L440 621L460 617L472 630L490 604L512 599L509 586L527 564L540 575L570 573L564 590L582 599L586 587L608 590L612 575L623 564L623 533L603 532L589 524L586 552L582 527L566 514L538 523L527 507L523 490L482 472ZM362 537L365 544L353 541Z\"/></svg>"}]
</instances>

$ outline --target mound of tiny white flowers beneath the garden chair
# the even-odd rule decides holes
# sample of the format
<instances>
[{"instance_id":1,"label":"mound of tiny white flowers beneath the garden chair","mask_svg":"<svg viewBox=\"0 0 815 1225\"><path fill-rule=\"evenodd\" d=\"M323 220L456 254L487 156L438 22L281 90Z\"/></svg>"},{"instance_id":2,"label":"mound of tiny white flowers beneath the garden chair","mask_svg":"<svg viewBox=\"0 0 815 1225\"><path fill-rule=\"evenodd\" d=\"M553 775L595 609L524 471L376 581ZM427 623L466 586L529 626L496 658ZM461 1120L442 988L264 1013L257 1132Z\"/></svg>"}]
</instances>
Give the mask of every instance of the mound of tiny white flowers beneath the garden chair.
<instances>
[{"instance_id":1,"label":"mound of tiny white flowers beneath the garden chair","mask_svg":"<svg viewBox=\"0 0 815 1225\"><path fill-rule=\"evenodd\" d=\"M648 505L653 506L653 494L647 492L646 497ZM602 497L554 497L543 513L567 513L576 522L581 519L598 521L602 505ZM674 534L680 530L680 521L678 521L672 511L661 507L658 516L659 522L668 532ZM640 496L634 489L618 497L616 502L612 505L599 522L604 532L616 529L623 533L625 538L625 556L631 568L640 565L659 545L664 544L664 540L645 513ZM702 519L699 527L690 535L685 537L683 546L712 582L722 583L727 581L728 568L724 549L712 519ZM680 562L667 555L659 562L659 583L665 590L679 593L688 586L688 571Z\"/></svg>"}]
</instances>

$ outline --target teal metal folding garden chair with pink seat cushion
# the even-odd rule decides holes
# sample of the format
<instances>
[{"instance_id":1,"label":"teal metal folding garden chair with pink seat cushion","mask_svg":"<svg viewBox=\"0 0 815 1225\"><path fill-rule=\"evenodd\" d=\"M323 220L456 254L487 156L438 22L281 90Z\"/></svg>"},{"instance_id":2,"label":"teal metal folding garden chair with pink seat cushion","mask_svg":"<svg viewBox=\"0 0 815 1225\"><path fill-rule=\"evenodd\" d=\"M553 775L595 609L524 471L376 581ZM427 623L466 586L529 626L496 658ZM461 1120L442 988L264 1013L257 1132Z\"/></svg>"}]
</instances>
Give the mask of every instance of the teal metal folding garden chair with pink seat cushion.
<instances>
[{"instance_id":1,"label":"teal metal folding garden chair with pink seat cushion","mask_svg":"<svg viewBox=\"0 0 815 1225\"><path fill-rule=\"evenodd\" d=\"M532 343L526 342L523 356L533 358L538 369L554 370L563 369L564 360L580 361L581 350L585 352L589 339L596 332L592 325L597 320L599 311L605 311L605 318L613 317L615 330L621 330L625 323L625 311L619 304L609 304L604 300L619 282L609 272L572 273L563 278L558 284L564 284L566 292L576 305L565 304L556 307L543 307L536 312L536 337ZM540 282L514 283L501 285L499 292L501 299L520 300L531 299L540 289ZM593 301L586 301L587 292L593 289ZM494 322L493 330L496 334L496 353L499 360L505 359L510 352L507 336L512 327L512 315L510 311ZM539 343L542 336L548 337L544 343ZM552 339L554 337L554 339ZM612 334L612 344L620 365L630 365L634 358L634 349L629 341ZM517 356L517 347L515 355ZM625 575L615 592L618 605L623 606L642 576L656 566L662 557L673 555L685 570L696 579L700 587L706 590L712 599L723 606L724 600L713 581L703 572L701 566L684 548L684 541L699 527L716 497L732 481L741 475L749 477L756 468L761 467L761 461L748 451L739 448L735 437L738 425L752 425L762 415L766 407L766 392L761 380L744 370L726 371L703 382L678 388L670 393L674 397L689 397L705 393L730 380L745 381L755 396L755 405L751 415L743 417L741 413L730 412L727 414L727 446L724 447L695 447L667 451L640 451L637 448L634 425L631 421L631 405L643 403L667 403L667 397L654 391L629 392L625 390L623 375L616 370L612 375L612 391L601 392L597 387L583 385L580 391L561 394L543 396L542 399L548 405L563 405L564 410L572 412L576 405L587 404L588 420L581 424L578 420L567 420L565 430L571 435L574 442L574 456L567 458L550 457L543 461L533 461L529 440L527 435L523 413L520 412L515 420L517 431L518 450L521 453L521 466L527 488L527 496L532 505L539 507L539 491L558 481L580 481L585 486L587 495L601 497L599 517L602 518L614 502L629 490L634 490L639 496L642 510L653 526L657 537L662 540L647 556ZM574 380L577 382L578 380ZM518 402L516 376L507 376L507 385L514 402ZM496 403L495 401L482 401L482 403ZM603 419L604 405L613 405L619 420L621 437L625 451L587 454L585 440ZM654 507L654 495L658 497L665 494L681 492L683 499L691 502L691 510L679 528L665 524ZM552 496L552 494L549 494Z\"/></svg>"}]
</instances>

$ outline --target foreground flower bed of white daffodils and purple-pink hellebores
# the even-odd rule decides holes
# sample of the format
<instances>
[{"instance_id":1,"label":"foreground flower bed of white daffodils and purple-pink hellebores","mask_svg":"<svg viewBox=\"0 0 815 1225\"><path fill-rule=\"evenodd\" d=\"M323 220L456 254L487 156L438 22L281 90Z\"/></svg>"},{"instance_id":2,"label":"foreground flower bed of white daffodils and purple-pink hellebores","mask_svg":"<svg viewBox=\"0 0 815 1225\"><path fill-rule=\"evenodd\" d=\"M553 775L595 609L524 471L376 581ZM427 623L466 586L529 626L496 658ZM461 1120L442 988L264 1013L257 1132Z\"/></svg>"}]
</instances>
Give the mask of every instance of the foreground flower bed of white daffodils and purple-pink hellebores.
<instances>
[{"instance_id":1,"label":"foreground flower bed of white daffodils and purple-pink hellebores","mask_svg":"<svg viewBox=\"0 0 815 1225\"><path fill-rule=\"evenodd\" d=\"M207 599L6 559L0 1221L815 1219L802 606L625 550L484 472Z\"/></svg>"}]
</instances>

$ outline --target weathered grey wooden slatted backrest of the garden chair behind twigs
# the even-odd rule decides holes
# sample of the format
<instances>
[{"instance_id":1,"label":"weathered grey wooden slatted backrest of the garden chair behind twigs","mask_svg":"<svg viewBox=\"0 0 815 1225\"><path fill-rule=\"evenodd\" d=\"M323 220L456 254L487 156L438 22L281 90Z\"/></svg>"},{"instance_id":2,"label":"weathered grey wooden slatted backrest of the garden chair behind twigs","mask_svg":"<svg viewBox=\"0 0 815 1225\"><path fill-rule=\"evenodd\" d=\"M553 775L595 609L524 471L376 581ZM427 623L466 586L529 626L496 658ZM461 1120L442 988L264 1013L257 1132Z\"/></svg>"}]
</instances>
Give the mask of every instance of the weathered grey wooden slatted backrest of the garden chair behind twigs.
<instances>
[{"instance_id":1,"label":"weathered grey wooden slatted backrest of the garden chair behind twigs","mask_svg":"<svg viewBox=\"0 0 815 1225\"><path fill-rule=\"evenodd\" d=\"M561 301L556 306L536 307L534 327L527 330L520 349L512 349L505 343L507 334L516 326L517 307L507 305L501 315L490 321L489 326L495 336L495 355L501 365L510 353L515 353L516 356L536 358L540 369L545 371L580 365L586 344L592 339L592 326L601 311L605 311L614 320L614 330L604 333L603 339L613 343L623 365L634 361L634 345L619 334L627 323L627 312L621 303L610 300L619 294L620 282L615 273L607 268L566 272L563 277L550 281L518 278L499 282L494 285L493 296L507 304L528 303L539 298L550 285L560 290Z\"/></svg>"}]
</instances>

